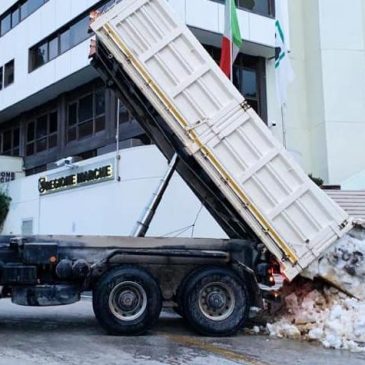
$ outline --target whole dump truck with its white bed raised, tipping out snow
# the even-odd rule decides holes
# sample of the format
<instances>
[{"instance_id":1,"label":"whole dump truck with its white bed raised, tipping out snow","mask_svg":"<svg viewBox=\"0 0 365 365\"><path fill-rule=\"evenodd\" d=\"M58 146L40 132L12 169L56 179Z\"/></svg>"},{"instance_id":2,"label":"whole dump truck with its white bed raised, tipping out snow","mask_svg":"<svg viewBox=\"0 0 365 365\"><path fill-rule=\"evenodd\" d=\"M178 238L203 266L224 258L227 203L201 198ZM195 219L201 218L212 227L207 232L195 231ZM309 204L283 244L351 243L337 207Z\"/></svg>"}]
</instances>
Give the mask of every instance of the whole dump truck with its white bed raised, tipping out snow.
<instances>
[{"instance_id":1,"label":"whole dump truck with its white bed raised, tipping out snow","mask_svg":"<svg viewBox=\"0 0 365 365\"><path fill-rule=\"evenodd\" d=\"M231 335L263 306L275 271L293 280L313 268L353 222L165 0L123 0L91 29L92 65L171 161L167 177L135 237L2 237L1 295L49 306L92 291L112 334L143 333L170 305L201 334ZM175 170L229 239L143 237Z\"/></svg>"}]
</instances>

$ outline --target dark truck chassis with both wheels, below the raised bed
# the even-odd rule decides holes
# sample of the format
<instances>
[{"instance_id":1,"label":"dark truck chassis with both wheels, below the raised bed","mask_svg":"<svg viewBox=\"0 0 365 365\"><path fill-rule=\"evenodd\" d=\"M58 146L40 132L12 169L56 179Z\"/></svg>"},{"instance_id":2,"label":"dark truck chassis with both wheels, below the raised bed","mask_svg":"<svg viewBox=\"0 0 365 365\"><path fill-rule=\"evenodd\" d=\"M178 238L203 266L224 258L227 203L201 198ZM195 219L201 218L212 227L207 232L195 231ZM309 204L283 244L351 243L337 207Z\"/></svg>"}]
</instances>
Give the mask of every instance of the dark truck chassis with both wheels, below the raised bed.
<instances>
[{"instance_id":1,"label":"dark truck chassis with both wheels, below the raised bed","mask_svg":"<svg viewBox=\"0 0 365 365\"><path fill-rule=\"evenodd\" d=\"M1 297L55 306L92 291L95 316L111 334L141 334L172 306L199 333L230 335L262 306L261 259L244 240L4 236Z\"/></svg>"}]
</instances>

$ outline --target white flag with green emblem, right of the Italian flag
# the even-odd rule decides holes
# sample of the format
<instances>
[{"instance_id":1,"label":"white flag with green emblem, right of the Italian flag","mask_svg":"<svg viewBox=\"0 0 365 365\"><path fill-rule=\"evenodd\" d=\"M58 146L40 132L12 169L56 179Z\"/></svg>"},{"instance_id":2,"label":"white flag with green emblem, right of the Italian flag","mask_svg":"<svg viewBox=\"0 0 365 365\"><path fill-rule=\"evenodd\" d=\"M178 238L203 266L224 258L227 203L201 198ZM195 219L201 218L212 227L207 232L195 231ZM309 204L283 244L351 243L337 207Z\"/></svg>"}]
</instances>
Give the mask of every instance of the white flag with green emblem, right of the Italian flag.
<instances>
[{"instance_id":1,"label":"white flag with green emblem, right of the Italian flag","mask_svg":"<svg viewBox=\"0 0 365 365\"><path fill-rule=\"evenodd\" d=\"M275 21L275 71L276 89L280 105L285 105L288 96L288 85L294 80L294 72L290 64L288 48L285 38L282 2L276 1Z\"/></svg>"}]
</instances>

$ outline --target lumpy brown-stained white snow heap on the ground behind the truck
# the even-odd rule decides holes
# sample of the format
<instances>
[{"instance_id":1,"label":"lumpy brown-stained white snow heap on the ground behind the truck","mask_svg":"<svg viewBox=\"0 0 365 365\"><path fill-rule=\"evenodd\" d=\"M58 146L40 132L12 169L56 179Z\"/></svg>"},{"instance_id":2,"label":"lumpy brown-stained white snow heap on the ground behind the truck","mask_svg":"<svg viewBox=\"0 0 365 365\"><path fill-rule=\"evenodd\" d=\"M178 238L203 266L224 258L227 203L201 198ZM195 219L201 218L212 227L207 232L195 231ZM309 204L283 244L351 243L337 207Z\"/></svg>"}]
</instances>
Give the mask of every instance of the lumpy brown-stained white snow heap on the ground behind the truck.
<instances>
[{"instance_id":1,"label":"lumpy brown-stained white snow heap on the ground behind the truck","mask_svg":"<svg viewBox=\"0 0 365 365\"><path fill-rule=\"evenodd\" d=\"M299 285L285 298L286 311L268 323L271 336L315 340L327 348L365 352L365 302L334 288Z\"/></svg>"}]
</instances>

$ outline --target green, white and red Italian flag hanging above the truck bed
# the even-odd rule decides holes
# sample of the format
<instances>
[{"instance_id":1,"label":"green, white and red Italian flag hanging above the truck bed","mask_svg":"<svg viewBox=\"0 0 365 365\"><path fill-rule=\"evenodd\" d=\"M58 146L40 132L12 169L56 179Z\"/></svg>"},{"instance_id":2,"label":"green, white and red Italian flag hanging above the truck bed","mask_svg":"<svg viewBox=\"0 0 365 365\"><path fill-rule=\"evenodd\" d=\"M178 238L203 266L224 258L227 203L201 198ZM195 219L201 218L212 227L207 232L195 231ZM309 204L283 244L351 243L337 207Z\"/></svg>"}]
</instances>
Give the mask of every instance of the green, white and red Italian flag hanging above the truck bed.
<instances>
[{"instance_id":1,"label":"green, white and red Italian flag hanging above the truck bed","mask_svg":"<svg viewBox=\"0 0 365 365\"><path fill-rule=\"evenodd\" d=\"M235 0L226 0L224 12L224 35L222 41L222 55L220 67L228 78L242 46L240 26L238 24L237 8Z\"/></svg>"}]
</instances>

